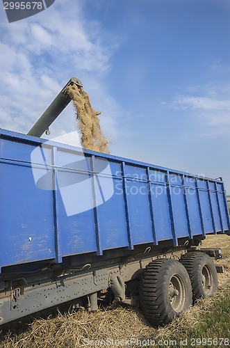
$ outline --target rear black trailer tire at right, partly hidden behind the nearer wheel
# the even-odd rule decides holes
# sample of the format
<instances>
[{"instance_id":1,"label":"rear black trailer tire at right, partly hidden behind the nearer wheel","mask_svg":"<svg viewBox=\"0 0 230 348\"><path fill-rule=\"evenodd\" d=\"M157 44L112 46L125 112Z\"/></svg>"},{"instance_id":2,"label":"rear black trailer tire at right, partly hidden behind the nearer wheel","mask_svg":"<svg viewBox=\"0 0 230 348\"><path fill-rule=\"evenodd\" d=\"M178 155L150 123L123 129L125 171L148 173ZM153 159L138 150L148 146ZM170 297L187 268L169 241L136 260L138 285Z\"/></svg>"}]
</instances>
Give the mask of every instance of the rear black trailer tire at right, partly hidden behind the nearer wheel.
<instances>
[{"instance_id":1,"label":"rear black trailer tire at right, partly hidden behind the nearer wheel","mask_svg":"<svg viewBox=\"0 0 230 348\"><path fill-rule=\"evenodd\" d=\"M192 284L192 301L211 297L217 292L218 278L215 263L209 255L200 251L184 254L181 263L188 272Z\"/></svg>"}]
</instances>

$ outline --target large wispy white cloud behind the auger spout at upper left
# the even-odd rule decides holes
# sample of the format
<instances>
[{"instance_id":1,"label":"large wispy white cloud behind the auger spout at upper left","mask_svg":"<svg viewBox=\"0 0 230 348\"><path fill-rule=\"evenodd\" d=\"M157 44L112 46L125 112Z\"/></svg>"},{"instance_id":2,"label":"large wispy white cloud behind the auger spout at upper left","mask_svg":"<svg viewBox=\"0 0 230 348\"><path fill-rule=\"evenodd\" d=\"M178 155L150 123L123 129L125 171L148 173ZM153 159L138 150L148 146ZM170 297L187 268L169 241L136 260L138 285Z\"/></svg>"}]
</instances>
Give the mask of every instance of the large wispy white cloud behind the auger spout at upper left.
<instances>
[{"instance_id":1,"label":"large wispy white cloud behind the auger spout at upper left","mask_svg":"<svg viewBox=\"0 0 230 348\"><path fill-rule=\"evenodd\" d=\"M97 79L101 100L111 100L100 84L118 40L98 22L85 18L81 1L74 1L74 6L70 0L56 1L29 19L1 23L0 30L1 127L28 132L72 76L84 77L84 86L85 81L90 86ZM97 95L97 90L92 92ZM117 107L115 101L113 105ZM104 125L113 128L112 133L117 127L108 118ZM56 120L56 126L53 136L76 129L72 106Z\"/></svg>"}]
</instances>

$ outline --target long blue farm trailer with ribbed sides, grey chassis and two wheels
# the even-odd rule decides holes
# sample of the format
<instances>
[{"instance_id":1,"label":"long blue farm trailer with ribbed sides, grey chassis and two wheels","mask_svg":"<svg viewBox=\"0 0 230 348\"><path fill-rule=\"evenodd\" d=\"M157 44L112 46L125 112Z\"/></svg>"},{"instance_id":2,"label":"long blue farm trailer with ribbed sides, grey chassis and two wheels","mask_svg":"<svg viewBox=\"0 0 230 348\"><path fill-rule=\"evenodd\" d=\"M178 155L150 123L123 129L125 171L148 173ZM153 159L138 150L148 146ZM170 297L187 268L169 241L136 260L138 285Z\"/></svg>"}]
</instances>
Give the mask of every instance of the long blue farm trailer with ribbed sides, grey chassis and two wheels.
<instances>
[{"instance_id":1,"label":"long blue farm trailer with ribbed sides, grey chassis and two wheels","mask_svg":"<svg viewBox=\"0 0 230 348\"><path fill-rule=\"evenodd\" d=\"M0 324L103 295L158 326L217 290L220 249L200 242L230 235L221 179L5 129L0 142Z\"/></svg>"}]
</instances>

